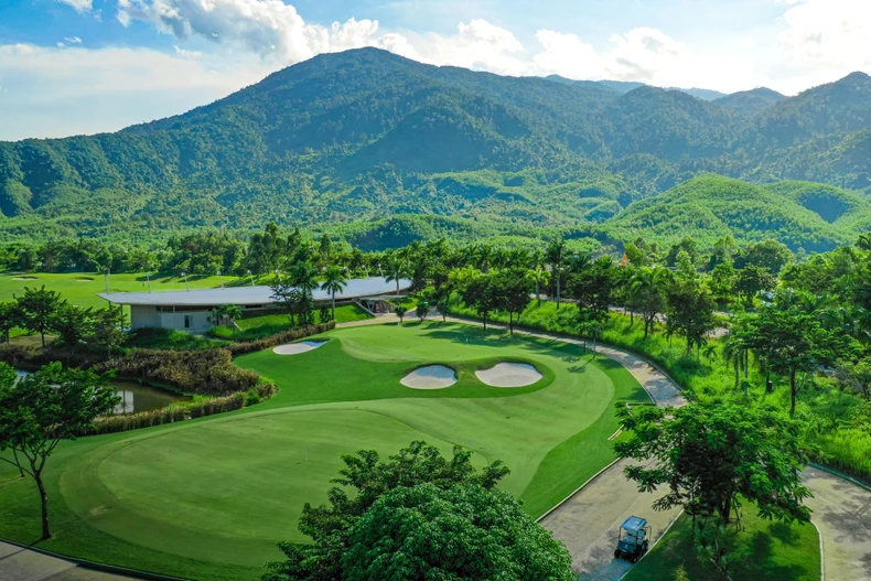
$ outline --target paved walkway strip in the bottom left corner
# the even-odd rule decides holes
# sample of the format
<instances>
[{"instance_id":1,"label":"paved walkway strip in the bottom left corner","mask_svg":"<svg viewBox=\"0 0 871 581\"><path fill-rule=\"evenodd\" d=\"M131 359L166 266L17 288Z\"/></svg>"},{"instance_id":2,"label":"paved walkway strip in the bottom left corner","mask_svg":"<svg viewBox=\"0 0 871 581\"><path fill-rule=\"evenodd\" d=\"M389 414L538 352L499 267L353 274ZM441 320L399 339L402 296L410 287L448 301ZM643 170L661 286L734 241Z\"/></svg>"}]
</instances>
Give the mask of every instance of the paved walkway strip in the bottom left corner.
<instances>
[{"instance_id":1,"label":"paved walkway strip in the bottom left corner","mask_svg":"<svg viewBox=\"0 0 871 581\"><path fill-rule=\"evenodd\" d=\"M0 541L0 579L3 581L129 581L133 578L83 569L73 562Z\"/></svg>"}]
</instances>

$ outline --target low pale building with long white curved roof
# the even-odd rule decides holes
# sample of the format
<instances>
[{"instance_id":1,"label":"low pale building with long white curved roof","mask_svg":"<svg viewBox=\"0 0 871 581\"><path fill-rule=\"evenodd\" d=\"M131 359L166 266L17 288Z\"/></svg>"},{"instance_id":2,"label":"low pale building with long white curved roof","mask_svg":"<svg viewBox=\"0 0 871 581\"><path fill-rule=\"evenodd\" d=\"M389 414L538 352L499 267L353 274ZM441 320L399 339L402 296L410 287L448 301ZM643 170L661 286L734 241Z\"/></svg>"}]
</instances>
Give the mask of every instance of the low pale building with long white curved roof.
<instances>
[{"instance_id":1,"label":"low pale building with long white curved roof","mask_svg":"<svg viewBox=\"0 0 871 581\"><path fill-rule=\"evenodd\" d=\"M411 281L399 281L399 291L407 291ZM320 289L313 293L315 305L330 304L329 292ZM336 303L373 301L396 294L396 281L387 282L380 277L352 279L344 292L336 293ZM272 298L269 287L229 287L190 291L159 292L104 292L98 297L112 304L130 306L130 324L133 330L146 327L174 329L191 333L205 333L214 326L212 310L222 304L236 304L243 311L268 311L280 308Z\"/></svg>"}]
</instances>

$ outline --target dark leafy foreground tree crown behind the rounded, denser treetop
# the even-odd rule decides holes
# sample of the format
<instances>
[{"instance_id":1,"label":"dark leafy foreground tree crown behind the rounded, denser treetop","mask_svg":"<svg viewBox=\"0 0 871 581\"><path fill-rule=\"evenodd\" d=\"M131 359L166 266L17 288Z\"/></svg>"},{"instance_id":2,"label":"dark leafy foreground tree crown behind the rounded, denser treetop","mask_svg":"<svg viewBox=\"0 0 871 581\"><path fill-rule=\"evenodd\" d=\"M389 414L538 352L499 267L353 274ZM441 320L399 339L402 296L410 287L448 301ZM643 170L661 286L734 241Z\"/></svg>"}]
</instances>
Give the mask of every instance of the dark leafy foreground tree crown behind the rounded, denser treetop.
<instances>
[{"instance_id":1,"label":"dark leafy foreground tree crown behind the rounded, denser treetop","mask_svg":"<svg viewBox=\"0 0 871 581\"><path fill-rule=\"evenodd\" d=\"M264 581L350 579L345 575L343 559L352 549L352 531L367 510L390 491L420 484L431 484L443 491L458 485L490 491L508 473L498 461L477 472L467 450L454 446L453 458L447 459L437 448L421 441L411 442L386 461L374 450L343 455L342 461L345 467L333 481L340 486L327 493L330 504L320 507L305 504L302 509L300 531L313 542L279 542L287 560L269 563Z\"/></svg>"}]
</instances>

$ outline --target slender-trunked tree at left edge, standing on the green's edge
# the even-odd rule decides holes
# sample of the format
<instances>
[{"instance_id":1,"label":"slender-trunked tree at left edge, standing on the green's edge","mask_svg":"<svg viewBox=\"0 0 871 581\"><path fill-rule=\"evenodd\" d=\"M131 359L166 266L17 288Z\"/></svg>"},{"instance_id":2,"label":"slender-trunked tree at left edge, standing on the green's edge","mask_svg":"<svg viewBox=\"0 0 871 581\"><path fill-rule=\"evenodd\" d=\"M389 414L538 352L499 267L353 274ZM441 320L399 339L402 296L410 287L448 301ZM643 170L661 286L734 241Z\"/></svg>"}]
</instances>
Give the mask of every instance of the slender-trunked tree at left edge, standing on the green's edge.
<instances>
[{"instance_id":1,"label":"slender-trunked tree at left edge, standing on the green's edge","mask_svg":"<svg viewBox=\"0 0 871 581\"><path fill-rule=\"evenodd\" d=\"M0 388L0 452L12 450L17 466L34 480L42 504L42 539L51 538L49 495L43 483L45 462L61 440L87 433L94 419L117 405L106 376L90 370L44 366L14 387ZM0 460L13 464L8 458Z\"/></svg>"}]
</instances>

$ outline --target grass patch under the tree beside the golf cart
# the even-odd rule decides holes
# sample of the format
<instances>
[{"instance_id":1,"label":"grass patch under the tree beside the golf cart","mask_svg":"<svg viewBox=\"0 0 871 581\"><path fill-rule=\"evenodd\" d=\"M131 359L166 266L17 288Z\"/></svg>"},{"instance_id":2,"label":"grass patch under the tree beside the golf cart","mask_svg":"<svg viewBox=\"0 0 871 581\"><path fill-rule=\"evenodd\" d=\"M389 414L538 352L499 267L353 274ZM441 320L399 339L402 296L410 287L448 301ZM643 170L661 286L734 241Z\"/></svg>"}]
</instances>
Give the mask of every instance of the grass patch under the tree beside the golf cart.
<instances>
[{"instance_id":1,"label":"grass patch under the tree beside the golf cart","mask_svg":"<svg viewBox=\"0 0 871 581\"><path fill-rule=\"evenodd\" d=\"M819 536L814 525L785 525L757 517L746 506L738 536L730 574L734 581L789 579L818 581L820 572ZM625 581L659 581L671 579L684 566L692 581L721 581L712 566L696 559L692 544L692 519L681 515L675 526L649 555L632 568Z\"/></svg>"}]
</instances>

